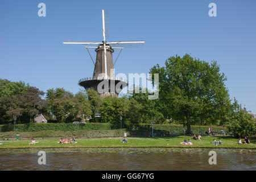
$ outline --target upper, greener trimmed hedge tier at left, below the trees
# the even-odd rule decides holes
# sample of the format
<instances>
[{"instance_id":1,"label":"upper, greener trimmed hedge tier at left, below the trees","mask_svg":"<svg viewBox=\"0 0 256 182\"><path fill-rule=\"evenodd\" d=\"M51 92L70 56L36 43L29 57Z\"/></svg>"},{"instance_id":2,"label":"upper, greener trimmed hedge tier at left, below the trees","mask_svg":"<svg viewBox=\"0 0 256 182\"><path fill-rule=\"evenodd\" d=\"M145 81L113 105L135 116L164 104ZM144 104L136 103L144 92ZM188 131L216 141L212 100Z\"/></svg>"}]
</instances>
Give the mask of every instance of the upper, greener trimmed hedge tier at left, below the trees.
<instances>
[{"instance_id":1,"label":"upper, greener trimmed hedge tier at left, below the trees","mask_svg":"<svg viewBox=\"0 0 256 182\"><path fill-rule=\"evenodd\" d=\"M110 123L28 123L15 125L15 131L78 131L78 130L111 130L116 129ZM1 132L13 131L14 125L0 125Z\"/></svg>"}]
</instances>

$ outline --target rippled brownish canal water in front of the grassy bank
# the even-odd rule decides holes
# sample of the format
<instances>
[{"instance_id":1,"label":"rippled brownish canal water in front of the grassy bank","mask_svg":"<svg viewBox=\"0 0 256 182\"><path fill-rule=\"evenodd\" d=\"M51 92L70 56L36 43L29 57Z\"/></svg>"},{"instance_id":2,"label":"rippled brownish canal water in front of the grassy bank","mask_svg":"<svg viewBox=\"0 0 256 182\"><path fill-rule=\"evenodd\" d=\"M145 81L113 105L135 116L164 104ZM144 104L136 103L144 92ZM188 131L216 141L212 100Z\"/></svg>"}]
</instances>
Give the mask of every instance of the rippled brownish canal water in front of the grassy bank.
<instances>
[{"instance_id":1,"label":"rippled brownish canal water in front of the grassy bank","mask_svg":"<svg viewBox=\"0 0 256 182\"><path fill-rule=\"evenodd\" d=\"M209 164L216 151L217 164ZM38 164L39 151L46 164ZM256 170L256 150L203 148L1 149L0 170Z\"/></svg>"}]
</instances>

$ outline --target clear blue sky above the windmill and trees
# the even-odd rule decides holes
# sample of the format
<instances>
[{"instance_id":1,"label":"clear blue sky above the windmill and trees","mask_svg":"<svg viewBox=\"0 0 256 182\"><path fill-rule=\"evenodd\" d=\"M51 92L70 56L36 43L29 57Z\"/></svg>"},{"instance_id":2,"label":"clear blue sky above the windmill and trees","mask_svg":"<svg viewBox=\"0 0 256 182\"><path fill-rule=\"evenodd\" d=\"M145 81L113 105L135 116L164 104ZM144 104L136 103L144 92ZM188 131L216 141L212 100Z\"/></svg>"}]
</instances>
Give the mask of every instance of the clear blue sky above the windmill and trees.
<instances>
[{"instance_id":1,"label":"clear blue sky above the windmill and trees","mask_svg":"<svg viewBox=\"0 0 256 182\"><path fill-rule=\"evenodd\" d=\"M40 2L46 3L46 17L38 16ZM217 5L217 17L208 15L210 2ZM102 9L109 11L108 40L146 41L142 48L122 51L115 73L148 73L176 54L216 60L230 97L256 113L254 0L0 0L0 78L44 92L63 87L76 93L79 79L92 76L94 67L84 46L62 42L102 41Z\"/></svg>"}]
</instances>

